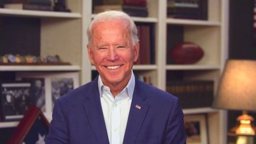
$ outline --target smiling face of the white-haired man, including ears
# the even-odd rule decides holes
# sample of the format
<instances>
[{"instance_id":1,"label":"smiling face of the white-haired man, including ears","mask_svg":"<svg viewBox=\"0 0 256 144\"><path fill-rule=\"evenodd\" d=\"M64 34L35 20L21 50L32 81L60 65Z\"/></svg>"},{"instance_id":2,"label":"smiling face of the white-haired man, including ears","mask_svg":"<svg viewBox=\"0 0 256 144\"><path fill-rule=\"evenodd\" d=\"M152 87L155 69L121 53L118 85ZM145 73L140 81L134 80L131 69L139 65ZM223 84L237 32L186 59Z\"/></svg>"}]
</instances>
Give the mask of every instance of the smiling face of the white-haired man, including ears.
<instances>
[{"instance_id":1,"label":"smiling face of the white-haired man, including ears","mask_svg":"<svg viewBox=\"0 0 256 144\"><path fill-rule=\"evenodd\" d=\"M139 53L139 43L132 46L127 27L121 20L98 22L92 28L91 40L89 59L104 85L126 85Z\"/></svg>"}]
</instances>

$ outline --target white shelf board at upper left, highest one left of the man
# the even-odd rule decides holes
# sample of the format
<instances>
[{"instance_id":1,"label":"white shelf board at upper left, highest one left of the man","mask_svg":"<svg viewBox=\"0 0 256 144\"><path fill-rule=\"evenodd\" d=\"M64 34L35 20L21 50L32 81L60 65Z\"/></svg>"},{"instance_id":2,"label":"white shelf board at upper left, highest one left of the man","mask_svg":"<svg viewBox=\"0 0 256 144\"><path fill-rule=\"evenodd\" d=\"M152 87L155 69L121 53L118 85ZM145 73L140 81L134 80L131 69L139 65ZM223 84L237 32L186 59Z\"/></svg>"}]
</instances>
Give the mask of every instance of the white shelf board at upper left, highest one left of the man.
<instances>
[{"instance_id":1,"label":"white shelf board at upper left, highest one left of the man","mask_svg":"<svg viewBox=\"0 0 256 144\"><path fill-rule=\"evenodd\" d=\"M53 11L33 11L22 9L0 8L0 15L13 15L22 17L38 17L38 18L81 18L81 14L72 12L53 12Z\"/></svg>"}]
</instances>

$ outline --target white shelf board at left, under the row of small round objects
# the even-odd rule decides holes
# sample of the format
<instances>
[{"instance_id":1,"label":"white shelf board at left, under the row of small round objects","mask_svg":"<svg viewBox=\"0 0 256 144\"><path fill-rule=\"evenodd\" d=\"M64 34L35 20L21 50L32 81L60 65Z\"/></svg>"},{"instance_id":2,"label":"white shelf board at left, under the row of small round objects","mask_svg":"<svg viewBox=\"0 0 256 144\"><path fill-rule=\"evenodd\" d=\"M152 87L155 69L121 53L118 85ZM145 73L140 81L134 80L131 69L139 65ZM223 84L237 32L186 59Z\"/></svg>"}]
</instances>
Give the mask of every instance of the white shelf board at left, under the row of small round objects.
<instances>
[{"instance_id":1,"label":"white shelf board at left, under the row of small round objects","mask_svg":"<svg viewBox=\"0 0 256 144\"><path fill-rule=\"evenodd\" d=\"M0 71L80 71L80 66L0 66Z\"/></svg>"}]
</instances>

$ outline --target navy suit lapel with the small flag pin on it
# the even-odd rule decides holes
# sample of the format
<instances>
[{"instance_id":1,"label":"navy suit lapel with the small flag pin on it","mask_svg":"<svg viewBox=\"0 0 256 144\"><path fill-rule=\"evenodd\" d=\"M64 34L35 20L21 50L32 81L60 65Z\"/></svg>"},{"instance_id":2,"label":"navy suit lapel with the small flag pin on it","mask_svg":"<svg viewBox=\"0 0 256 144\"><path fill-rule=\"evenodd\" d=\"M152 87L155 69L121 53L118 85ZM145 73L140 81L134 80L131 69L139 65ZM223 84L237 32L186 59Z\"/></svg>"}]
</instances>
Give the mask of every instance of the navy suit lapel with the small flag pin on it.
<instances>
[{"instance_id":1,"label":"navy suit lapel with the small flag pin on it","mask_svg":"<svg viewBox=\"0 0 256 144\"><path fill-rule=\"evenodd\" d=\"M146 95L142 92L145 89L141 88L139 83L140 82L136 79L135 91L133 93L123 144L135 143L136 137L149 108L149 104L145 102Z\"/></svg>"}]
</instances>

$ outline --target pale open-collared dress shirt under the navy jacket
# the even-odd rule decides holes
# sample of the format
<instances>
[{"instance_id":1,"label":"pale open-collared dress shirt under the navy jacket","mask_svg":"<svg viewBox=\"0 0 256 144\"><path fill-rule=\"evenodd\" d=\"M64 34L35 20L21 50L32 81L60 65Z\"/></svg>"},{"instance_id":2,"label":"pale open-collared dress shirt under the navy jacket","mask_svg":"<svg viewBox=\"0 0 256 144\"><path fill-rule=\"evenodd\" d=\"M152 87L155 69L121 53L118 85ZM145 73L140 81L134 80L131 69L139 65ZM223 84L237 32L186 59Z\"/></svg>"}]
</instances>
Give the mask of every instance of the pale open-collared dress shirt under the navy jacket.
<instances>
[{"instance_id":1,"label":"pale open-collared dress shirt under the navy jacket","mask_svg":"<svg viewBox=\"0 0 256 144\"><path fill-rule=\"evenodd\" d=\"M134 88L133 71L127 86L116 95L116 98L111 94L110 88L103 84L101 77L98 78L101 107L110 144L123 143Z\"/></svg>"}]
</instances>

